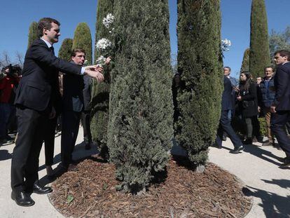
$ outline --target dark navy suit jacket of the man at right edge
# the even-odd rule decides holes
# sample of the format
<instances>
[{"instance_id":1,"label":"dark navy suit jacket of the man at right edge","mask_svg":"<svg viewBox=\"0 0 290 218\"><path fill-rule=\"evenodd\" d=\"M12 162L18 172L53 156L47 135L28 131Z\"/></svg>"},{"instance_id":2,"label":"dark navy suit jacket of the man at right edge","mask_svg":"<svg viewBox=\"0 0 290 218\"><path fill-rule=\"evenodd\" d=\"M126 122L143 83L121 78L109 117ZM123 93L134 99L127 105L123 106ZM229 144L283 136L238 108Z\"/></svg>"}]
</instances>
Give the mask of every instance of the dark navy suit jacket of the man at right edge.
<instances>
[{"instance_id":1,"label":"dark navy suit jacket of the man at right edge","mask_svg":"<svg viewBox=\"0 0 290 218\"><path fill-rule=\"evenodd\" d=\"M276 111L290 111L290 62L277 67L274 84Z\"/></svg>"}]
</instances>

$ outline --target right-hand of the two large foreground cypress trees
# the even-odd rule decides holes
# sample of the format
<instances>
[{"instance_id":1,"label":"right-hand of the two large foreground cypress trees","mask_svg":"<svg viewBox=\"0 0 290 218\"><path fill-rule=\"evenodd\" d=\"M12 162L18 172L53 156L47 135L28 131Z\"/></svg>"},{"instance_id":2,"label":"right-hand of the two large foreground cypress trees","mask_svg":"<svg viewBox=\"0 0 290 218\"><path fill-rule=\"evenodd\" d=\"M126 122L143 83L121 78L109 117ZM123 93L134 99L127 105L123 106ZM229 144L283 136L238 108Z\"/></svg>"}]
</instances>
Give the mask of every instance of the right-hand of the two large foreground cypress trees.
<instances>
[{"instance_id":1,"label":"right-hand of the two large foreground cypress trees","mask_svg":"<svg viewBox=\"0 0 290 218\"><path fill-rule=\"evenodd\" d=\"M177 28L181 88L175 135L193 166L202 171L221 113L220 1L179 0Z\"/></svg>"}]
</instances>

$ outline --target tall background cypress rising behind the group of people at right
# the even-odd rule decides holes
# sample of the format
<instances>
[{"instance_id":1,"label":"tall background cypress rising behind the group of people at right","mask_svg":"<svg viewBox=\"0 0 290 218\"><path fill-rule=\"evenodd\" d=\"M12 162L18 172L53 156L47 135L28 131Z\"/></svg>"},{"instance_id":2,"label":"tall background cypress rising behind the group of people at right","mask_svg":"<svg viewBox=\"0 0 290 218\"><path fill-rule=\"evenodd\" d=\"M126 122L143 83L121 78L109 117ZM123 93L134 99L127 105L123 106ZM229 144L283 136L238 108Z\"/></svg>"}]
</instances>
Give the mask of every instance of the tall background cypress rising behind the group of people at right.
<instances>
[{"instance_id":1,"label":"tall background cypress rising behind the group of people at right","mask_svg":"<svg viewBox=\"0 0 290 218\"><path fill-rule=\"evenodd\" d=\"M267 13L264 0L251 1L251 39L249 71L256 78L270 65Z\"/></svg>"}]
</instances>

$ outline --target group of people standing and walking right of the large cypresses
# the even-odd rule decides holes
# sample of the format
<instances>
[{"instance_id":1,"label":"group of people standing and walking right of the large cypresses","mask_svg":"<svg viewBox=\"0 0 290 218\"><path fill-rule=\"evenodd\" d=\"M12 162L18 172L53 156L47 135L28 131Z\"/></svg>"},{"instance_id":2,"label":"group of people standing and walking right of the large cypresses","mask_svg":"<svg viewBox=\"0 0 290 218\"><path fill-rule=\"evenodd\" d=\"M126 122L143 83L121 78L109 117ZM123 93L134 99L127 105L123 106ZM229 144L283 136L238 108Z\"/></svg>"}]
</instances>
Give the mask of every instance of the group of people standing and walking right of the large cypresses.
<instances>
[{"instance_id":1,"label":"group of people standing and walking right of the large cypresses","mask_svg":"<svg viewBox=\"0 0 290 218\"><path fill-rule=\"evenodd\" d=\"M272 66L264 68L264 76L256 82L249 71L240 73L240 81L230 76L230 67L223 67L223 94L221 118L216 136L216 147L222 148L222 140L228 136L233 142L233 154L244 149L244 144L262 142L263 146L282 149L286 158L282 167L290 165L290 52L275 53L276 71ZM268 139L263 141L258 117L264 117ZM233 117L244 123L244 135L239 137L233 128ZM277 144L275 143L277 137Z\"/></svg>"}]
</instances>

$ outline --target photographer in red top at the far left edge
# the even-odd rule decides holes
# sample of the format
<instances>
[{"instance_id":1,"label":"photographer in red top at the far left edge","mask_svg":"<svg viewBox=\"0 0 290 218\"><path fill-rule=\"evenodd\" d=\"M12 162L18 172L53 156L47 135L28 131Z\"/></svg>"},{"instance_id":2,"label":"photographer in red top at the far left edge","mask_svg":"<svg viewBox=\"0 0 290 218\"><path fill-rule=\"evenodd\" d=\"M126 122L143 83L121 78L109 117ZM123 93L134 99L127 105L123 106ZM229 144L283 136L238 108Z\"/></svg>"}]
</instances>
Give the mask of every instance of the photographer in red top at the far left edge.
<instances>
[{"instance_id":1,"label":"photographer in red top at the far left edge","mask_svg":"<svg viewBox=\"0 0 290 218\"><path fill-rule=\"evenodd\" d=\"M0 144L12 144L14 140L8 136L7 125L14 111L15 89L20 81L21 68L11 64L4 67L0 76Z\"/></svg>"}]
</instances>

